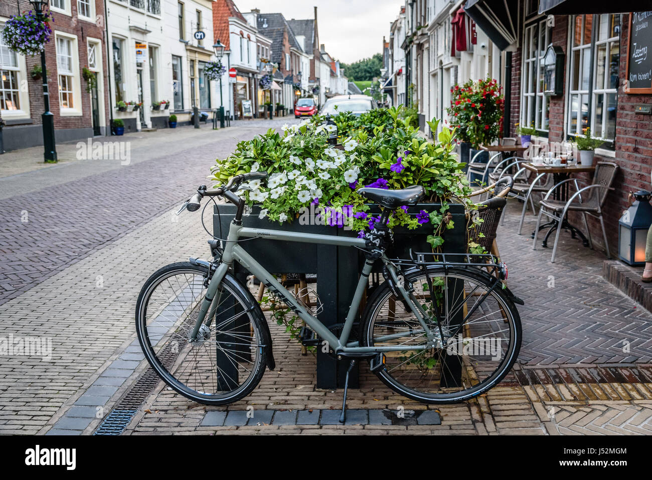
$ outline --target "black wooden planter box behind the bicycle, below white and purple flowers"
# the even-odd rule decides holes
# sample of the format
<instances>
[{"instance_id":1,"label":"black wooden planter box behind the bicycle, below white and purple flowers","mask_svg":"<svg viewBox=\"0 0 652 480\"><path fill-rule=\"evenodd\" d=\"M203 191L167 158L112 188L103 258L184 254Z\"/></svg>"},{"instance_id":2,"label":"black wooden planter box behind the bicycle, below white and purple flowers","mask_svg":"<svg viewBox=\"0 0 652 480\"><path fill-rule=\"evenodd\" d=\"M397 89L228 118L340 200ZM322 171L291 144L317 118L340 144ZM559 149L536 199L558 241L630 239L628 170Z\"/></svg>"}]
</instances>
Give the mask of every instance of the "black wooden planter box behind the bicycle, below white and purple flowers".
<instances>
[{"instance_id":1,"label":"black wooden planter box behind the bicycle, below white and purple flowers","mask_svg":"<svg viewBox=\"0 0 652 480\"><path fill-rule=\"evenodd\" d=\"M409 215L417 215L419 211L428 212L439 209L438 203L420 203L408 209ZM291 224L270 222L258 218L259 207L254 207L252 214L244 217L244 226L251 228L269 228L286 232L321 233L322 235L356 236L357 232L344 230L334 226L301 225L299 220ZM451 204L449 211L454 221L454 228L445 230L443 251L445 253L466 252L466 217L464 205ZM378 215L379 208L374 205L371 214ZM235 215L235 205L226 203L215 207L213 214L213 234L218 238L226 238L229 226ZM313 222L314 223L314 222ZM416 230L394 228L394 247L388 250L391 258L409 258L410 248L415 252L430 252L426 237L432 234L432 225L427 223ZM269 239L248 239L241 243L243 248L271 273L316 273L317 295L323 303L324 310L319 314L319 320L327 327L335 323L344 323L355 286L357 285L364 254L353 247L336 247L334 245L316 245L288 241L273 241ZM244 281L248 272L236 265L235 274ZM337 362L326 353L317 353L318 388L331 389L344 386L344 370L342 365L338 372ZM357 368L349 377L349 386L358 387Z\"/></svg>"}]
</instances>

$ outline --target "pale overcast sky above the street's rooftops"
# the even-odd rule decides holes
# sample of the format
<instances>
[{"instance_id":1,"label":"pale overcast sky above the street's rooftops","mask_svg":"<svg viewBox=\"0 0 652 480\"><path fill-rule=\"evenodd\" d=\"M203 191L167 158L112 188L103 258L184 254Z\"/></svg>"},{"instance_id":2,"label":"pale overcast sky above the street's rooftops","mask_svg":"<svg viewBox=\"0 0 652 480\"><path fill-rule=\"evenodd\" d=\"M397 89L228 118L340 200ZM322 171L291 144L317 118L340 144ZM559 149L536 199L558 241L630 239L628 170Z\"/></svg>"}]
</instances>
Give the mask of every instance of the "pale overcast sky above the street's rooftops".
<instances>
[{"instance_id":1,"label":"pale overcast sky above the street's rooftops","mask_svg":"<svg viewBox=\"0 0 652 480\"><path fill-rule=\"evenodd\" d=\"M319 42L334 58L353 63L381 53L383 35L404 0L234 0L241 12L282 13L287 20L314 18L317 7Z\"/></svg>"}]
</instances>

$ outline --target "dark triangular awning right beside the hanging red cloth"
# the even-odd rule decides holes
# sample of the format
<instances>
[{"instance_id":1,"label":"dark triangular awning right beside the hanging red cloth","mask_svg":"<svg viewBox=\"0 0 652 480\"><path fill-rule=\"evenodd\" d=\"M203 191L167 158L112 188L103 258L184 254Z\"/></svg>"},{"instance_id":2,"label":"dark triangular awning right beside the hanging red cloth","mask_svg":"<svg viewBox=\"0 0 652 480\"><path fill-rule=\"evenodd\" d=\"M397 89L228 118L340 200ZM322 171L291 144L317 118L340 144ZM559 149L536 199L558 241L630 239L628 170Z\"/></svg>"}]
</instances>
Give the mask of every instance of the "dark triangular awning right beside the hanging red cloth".
<instances>
[{"instance_id":1,"label":"dark triangular awning right beside the hanging red cloth","mask_svg":"<svg viewBox=\"0 0 652 480\"><path fill-rule=\"evenodd\" d=\"M516 44L518 0L467 0L464 11L500 50Z\"/></svg>"}]
</instances>

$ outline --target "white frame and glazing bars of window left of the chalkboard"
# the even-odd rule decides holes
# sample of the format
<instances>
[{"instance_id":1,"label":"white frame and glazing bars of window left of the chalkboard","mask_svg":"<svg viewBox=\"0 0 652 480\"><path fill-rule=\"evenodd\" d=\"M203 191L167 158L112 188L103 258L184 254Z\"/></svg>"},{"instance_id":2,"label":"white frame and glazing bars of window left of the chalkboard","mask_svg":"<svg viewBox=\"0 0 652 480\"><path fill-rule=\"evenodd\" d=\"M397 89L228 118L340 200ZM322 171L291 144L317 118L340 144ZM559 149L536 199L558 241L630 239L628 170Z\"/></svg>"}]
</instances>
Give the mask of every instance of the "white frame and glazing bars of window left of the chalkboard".
<instances>
[{"instance_id":1,"label":"white frame and glazing bars of window left of the chalkboard","mask_svg":"<svg viewBox=\"0 0 652 480\"><path fill-rule=\"evenodd\" d=\"M607 15L607 20L609 19L609 16L612 14L606 14ZM617 15L617 14L613 14ZM603 78L603 83L602 83L602 88L597 87L597 69L599 68L598 62L597 62L597 55L598 55L598 50L599 47L604 45L606 48L606 53L605 53L605 60L609 58L609 47L612 44L619 44L620 42L620 37L619 35L616 35L615 37L609 37L609 38L604 38L600 40L599 38L596 38L594 35L594 29L600 27L600 19L602 18L602 14L597 14L593 18L593 22L591 23L591 39L589 40L589 43L587 44L582 44L580 46L575 46L574 44L574 25L575 25L575 18L577 15L569 16L569 42L571 45L571 55L569 55L569 83L567 85L567 91L569 92L568 98L567 98L567 110L568 110L568 120L567 120L567 133L568 135L572 138L576 133L582 134L582 127L580 125L580 120L579 116L582 114L582 108L581 106L579 107L579 110L577 113L578 115L578 125L579 125L579 130L578 131L573 131L571 130L571 121L572 121L572 97L574 95L579 95L580 96L580 102L582 95L586 95L587 99L589 100L590 103L590 108L589 111L587 112L587 115L589 116L589 127L591 128L591 136L595 138L600 138L604 140L606 145L603 145L602 148L600 148L600 151L612 151L614 149L614 140L615 140L615 128L614 128L614 138L607 138L604 135L602 136L597 136L595 134L595 120L596 120L596 115L595 115L595 105L596 105L596 98L598 95L604 95L605 98L603 98L603 108L604 105L606 105L606 95L609 93L612 93L615 95L616 102L617 102L617 91L618 91L618 85L616 85L615 88L607 88L608 86L608 63L605 61L605 65L603 66L604 70L604 78ZM597 22L596 22L597 20ZM622 22L622 18L621 18ZM608 23L608 22L607 22ZM582 21L582 31L580 32L580 36L584 38L584 25L585 25L585 20L583 19ZM622 28L622 23L620 25ZM595 40L595 43L594 43ZM580 53L581 52L581 53ZM572 89L572 84L574 81L574 70L572 68L573 61L575 58L575 55L586 55L589 54L591 55L589 57L589 68L591 68L591 62L593 63L593 71L591 72L593 80L591 84L589 84L588 89L583 89L581 83L578 83L578 89L573 90ZM585 72L583 71L583 57L580 56L580 81L582 80L582 77L585 75ZM616 104L617 108L617 104ZM602 125L600 128L600 131L602 134L604 134L604 128L606 127L606 115L602 115ZM606 149L605 149L606 147Z\"/></svg>"}]
</instances>

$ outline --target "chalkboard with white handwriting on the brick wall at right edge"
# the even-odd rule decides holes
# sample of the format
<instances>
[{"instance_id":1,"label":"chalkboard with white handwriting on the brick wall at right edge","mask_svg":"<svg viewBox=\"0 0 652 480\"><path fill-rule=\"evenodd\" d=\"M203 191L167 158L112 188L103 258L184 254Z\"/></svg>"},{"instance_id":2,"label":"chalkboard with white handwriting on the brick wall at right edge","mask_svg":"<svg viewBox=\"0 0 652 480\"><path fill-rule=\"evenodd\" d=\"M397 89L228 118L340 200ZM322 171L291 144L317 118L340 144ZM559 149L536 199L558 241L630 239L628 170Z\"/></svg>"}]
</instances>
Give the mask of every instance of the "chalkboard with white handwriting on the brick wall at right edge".
<instances>
[{"instance_id":1,"label":"chalkboard with white handwriting on the brick wall at right edge","mask_svg":"<svg viewBox=\"0 0 652 480\"><path fill-rule=\"evenodd\" d=\"M625 93L652 93L652 12L629 16Z\"/></svg>"}]
</instances>

